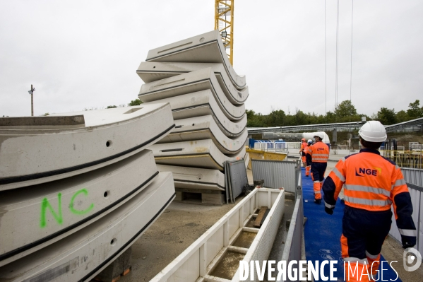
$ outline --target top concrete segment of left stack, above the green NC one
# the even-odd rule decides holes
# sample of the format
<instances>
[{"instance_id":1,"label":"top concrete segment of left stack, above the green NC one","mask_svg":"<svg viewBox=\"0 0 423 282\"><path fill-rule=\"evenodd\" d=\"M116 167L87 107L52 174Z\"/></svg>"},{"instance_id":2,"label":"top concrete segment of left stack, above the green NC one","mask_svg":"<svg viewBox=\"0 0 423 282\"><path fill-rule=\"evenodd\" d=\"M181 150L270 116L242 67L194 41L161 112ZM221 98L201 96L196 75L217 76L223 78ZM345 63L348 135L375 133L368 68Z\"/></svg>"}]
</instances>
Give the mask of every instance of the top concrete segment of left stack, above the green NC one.
<instances>
[{"instance_id":1,"label":"top concrete segment of left stack, above the green NC one","mask_svg":"<svg viewBox=\"0 0 423 282\"><path fill-rule=\"evenodd\" d=\"M116 163L160 140L174 127L169 104L58 115L80 114L85 127L0 127L0 191L59 180Z\"/></svg>"}]
</instances>

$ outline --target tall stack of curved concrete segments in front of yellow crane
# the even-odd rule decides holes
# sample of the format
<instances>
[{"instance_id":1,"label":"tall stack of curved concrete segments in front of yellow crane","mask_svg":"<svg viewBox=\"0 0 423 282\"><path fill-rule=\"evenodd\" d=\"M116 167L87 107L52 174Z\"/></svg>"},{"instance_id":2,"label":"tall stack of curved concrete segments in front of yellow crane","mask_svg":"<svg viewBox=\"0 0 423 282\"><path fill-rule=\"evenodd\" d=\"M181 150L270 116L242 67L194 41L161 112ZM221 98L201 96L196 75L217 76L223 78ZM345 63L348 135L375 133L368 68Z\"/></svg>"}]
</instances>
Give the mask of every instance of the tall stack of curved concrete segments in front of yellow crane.
<instances>
[{"instance_id":1,"label":"tall stack of curved concrete segments in front of yellow crane","mask_svg":"<svg viewBox=\"0 0 423 282\"><path fill-rule=\"evenodd\" d=\"M177 198L181 192L203 198L210 190L224 191L225 161L245 157L249 89L227 59L218 30L150 50L137 74L145 82L140 100L172 107L175 129L150 149L160 170L178 175ZM201 176L193 177L196 170ZM204 175L208 181L201 180ZM215 204L222 204L221 195Z\"/></svg>"}]
</instances>

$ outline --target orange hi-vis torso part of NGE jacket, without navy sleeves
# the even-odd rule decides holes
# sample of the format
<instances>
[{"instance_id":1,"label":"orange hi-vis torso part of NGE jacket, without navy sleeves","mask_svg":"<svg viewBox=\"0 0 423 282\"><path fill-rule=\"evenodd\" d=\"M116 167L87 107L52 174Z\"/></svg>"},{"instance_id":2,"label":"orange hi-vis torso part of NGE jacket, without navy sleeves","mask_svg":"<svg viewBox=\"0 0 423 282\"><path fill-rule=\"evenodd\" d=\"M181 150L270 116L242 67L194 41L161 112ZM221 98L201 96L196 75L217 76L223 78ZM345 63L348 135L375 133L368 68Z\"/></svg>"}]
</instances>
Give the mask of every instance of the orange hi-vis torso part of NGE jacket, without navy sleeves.
<instances>
[{"instance_id":1,"label":"orange hi-vis torso part of NGE jacket, without navy sleeves","mask_svg":"<svg viewBox=\"0 0 423 282\"><path fill-rule=\"evenodd\" d=\"M395 195L408 193L403 173L398 165L369 149L342 158L329 177L335 184L335 199L338 198L342 183L345 183L345 204L367 211L386 211L394 204Z\"/></svg>"}]
</instances>

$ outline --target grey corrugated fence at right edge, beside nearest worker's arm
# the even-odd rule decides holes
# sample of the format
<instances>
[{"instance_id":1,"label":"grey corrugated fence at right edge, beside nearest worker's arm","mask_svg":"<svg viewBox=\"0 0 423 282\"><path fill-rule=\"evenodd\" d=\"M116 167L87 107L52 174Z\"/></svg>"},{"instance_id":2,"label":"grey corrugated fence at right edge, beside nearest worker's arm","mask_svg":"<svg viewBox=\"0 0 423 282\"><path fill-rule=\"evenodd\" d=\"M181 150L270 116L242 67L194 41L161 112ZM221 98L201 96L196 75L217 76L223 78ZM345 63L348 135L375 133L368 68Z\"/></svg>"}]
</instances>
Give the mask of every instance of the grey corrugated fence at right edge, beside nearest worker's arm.
<instances>
[{"instance_id":1,"label":"grey corrugated fence at right edge, beside nearest worker's arm","mask_svg":"<svg viewBox=\"0 0 423 282\"><path fill-rule=\"evenodd\" d=\"M407 182L408 191L410 191L412 201L412 219L417 228L417 249L423 254L423 170L412 168L401 168L405 182ZM395 222L395 216L392 216L392 226L389 234L401 242L401 235Z\"/></svg>"}]
</instances>

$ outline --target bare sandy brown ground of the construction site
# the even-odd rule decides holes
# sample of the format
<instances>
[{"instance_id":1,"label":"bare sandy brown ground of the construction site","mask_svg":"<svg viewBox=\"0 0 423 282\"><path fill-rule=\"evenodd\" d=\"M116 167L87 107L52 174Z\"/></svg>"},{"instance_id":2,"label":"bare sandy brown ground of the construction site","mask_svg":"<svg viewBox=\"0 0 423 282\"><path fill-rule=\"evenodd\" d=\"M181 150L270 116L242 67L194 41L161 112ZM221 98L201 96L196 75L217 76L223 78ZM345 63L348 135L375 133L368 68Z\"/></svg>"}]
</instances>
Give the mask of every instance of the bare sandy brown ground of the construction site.
<instances>
[{"instance_id":1,"label":"bare sandy brown ground of the construction site","mask_svg":"<svg viewBox=\"0 0 423 282\"><path fill-rule=\"evenodd\" d=\"M335 161L328 162L326 176L335 164ZM247 170L247 176L252 184L251 170ZM128 275L122 276L120 281L150 281L242 199L243 196L239 196L235 204L223 206L172 202L162 216L132 245L132 269ZM285 215L282 221L287 219L290 218ZM282 222L280 226L283 225L285 223ZM390 236L383 245L382 254L389 262L398 261L398 264L394 265L401 266L395 270L402 281L414 282L423 277L423 264L417 271L407 272L403 269L403 248Z\"/></svg>"}]
</instances>

